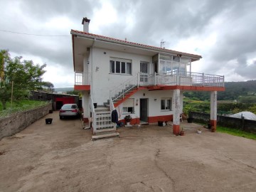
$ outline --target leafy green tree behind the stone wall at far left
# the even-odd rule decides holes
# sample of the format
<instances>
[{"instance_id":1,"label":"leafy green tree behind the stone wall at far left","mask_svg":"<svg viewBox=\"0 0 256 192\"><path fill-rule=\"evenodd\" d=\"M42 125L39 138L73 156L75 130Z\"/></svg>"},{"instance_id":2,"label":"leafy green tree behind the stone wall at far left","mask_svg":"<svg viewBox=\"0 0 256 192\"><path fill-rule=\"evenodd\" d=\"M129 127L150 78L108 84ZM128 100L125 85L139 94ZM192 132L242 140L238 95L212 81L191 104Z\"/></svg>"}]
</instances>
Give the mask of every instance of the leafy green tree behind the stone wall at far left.
<instances>
[{"instance_id":1,"label":"leafy green tree behind the stone wall at far left","mask_svg":"<svg viewBox=\"0 0 256 192\"><path fill-rule=\"evenodd\" d=\"M31 90L42 85L42 75L46 73L43 65L34 65L32 60L21 60L22 57L11 58L8 50L0 50L0 102L6 110L6 102L11 100L13 86L13 100L28 97Z\"/></svg>"}]
</instances>

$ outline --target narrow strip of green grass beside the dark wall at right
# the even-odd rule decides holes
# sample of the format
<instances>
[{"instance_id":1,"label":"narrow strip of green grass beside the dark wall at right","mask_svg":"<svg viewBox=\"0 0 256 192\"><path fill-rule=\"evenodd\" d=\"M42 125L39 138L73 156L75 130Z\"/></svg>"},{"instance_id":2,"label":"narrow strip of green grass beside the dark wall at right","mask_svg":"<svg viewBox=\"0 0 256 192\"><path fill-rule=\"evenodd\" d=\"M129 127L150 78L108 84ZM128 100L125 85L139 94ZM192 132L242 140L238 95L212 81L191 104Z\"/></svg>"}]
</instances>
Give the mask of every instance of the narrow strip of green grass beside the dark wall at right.
<instances>
[{"instance_id":1,"label":"narrow strip of green grass beside the dark wall at right","mask_svg":"<svg viewBox=\"0 0 256 192\"><path fill-rule=\"evenodd\" d=\"M240 129L232 129L232 128L228 128L228 127L217 126L216 131L221 132L221 133L226 133L226 134L232 134L232 135L238 136L238 137L245 137L247 139L256 140L256 134L245 132Z\"/></svg>"}]
</instances>

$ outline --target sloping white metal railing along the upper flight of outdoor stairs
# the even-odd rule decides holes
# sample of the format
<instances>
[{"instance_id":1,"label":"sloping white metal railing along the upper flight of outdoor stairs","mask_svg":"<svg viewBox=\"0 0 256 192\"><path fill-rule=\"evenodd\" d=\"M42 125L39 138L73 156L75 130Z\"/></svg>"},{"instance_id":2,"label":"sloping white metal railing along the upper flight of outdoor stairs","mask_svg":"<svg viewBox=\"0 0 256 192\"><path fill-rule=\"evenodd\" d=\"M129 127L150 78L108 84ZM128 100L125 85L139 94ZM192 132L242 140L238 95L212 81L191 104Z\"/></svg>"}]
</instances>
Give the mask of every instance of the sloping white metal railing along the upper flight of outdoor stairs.
<instances>
[{"instance_id":1,"label":"sloping white metal railing along the upper flight of outdoor stairs","mask_svg":"<svg viewBox=\"0 0 256 192\"><path fill-rule=\"evenodd\" d=\"M123 99L125 93L129 92L129 90L133 90L134 87L139 87L139 74L140 73L137 73L134 77L122 82L120 85L110 90L110 99L112 99L113 102L120 97Z\"/></svg>"}]
</instances>

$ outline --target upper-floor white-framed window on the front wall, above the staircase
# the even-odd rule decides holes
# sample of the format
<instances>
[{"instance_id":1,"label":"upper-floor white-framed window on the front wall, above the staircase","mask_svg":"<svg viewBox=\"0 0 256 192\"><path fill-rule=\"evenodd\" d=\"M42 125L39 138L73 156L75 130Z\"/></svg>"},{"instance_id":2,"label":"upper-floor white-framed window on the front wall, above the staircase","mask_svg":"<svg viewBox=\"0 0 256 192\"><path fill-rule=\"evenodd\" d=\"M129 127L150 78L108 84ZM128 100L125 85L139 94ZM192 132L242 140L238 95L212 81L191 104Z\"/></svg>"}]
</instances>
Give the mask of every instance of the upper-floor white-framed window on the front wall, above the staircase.
<instances>
[{"instance_id":1,"label":"upper-floor white-framed window on the front wall, above the staircase","mask_svg":"<svg viewBox=\"0 0 256 192\"><path fill-rule=\"evenodd\" d=\"M129 74L132 75L131 60L110 58L110 73Z\"/></svg>"}]
</instances>

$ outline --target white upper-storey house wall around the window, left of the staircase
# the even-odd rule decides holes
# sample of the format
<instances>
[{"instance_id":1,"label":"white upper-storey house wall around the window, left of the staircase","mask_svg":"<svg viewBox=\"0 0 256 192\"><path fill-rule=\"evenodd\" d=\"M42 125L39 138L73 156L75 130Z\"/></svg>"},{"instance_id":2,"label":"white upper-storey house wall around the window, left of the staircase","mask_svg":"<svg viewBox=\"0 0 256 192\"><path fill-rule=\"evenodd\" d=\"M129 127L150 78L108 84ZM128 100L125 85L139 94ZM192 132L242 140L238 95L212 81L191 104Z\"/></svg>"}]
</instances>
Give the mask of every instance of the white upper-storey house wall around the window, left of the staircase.
<instances>
[{"instance_id":1,"label":"white upper-storey house wall around the window, left of the staircase","mask_svg":"<svg viewBox=\"0 0 256 192\"><path fill-rule=\"evenodd\" d=\"M105 54L106 53L106 54ZM132 75L117 75L110 73L110 58L132 60ZM97 105L103 105L110 97L110 90L125 80L132 78L140 70L140 62L146 61L151 65L151 56L122 53L112 50L93 48L92 54L92 96ZM91 64L90 64L91 65Z\"/></svg>"}]
</instances>

